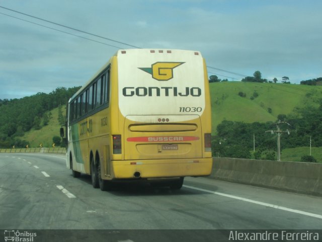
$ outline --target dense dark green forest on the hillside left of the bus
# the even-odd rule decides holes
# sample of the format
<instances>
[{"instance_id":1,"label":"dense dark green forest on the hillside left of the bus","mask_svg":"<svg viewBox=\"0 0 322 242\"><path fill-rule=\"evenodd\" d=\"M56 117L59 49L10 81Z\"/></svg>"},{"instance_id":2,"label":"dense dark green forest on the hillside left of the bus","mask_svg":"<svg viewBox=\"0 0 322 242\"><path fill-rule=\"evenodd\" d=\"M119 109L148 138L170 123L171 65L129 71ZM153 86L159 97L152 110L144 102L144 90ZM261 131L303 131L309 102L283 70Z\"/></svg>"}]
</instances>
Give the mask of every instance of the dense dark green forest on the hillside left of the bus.
<instances>
[{"instance_id":1,"label":"dense dark green forest on the hillside left of the bus","mask_svg":"<svg viewBox=\"0 0 322 242\"><path fill-rule=\"evenodd\" d=\"M47 112L65 105L79 88L58 87L49 94L39 92L30 97L0 100L0 148L25 147L28 142L19 137L32 128L40 129L41 119L43 125L48 125L51 113ZM60 115L60 123L62 119Z\"/></svg>"}]
</instances>

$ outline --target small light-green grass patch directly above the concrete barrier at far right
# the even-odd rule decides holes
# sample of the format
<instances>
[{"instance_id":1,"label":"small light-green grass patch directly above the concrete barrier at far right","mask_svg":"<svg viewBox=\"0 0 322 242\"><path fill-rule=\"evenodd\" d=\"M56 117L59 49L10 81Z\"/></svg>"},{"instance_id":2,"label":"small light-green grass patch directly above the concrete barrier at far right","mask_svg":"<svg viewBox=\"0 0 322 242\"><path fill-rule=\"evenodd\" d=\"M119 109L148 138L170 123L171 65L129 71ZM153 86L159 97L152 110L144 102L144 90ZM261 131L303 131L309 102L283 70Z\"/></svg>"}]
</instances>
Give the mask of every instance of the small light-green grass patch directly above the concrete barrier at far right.
<instances>
[{"instance_id":1,"label":"small light-green grass patch directly above the concrete barrier at far right","mask_svg":"<svg viewBox=\"0 0 322 242\"><path fill-rule=\"evenodd\" d=\"M283 149L281 151L281 160L283 161L300 161L304 155L310 155L310 147L296 147ZM311 155L317 162L322 163L322 149L319 147L312 147Z\"/></svg>"}]
</instances>

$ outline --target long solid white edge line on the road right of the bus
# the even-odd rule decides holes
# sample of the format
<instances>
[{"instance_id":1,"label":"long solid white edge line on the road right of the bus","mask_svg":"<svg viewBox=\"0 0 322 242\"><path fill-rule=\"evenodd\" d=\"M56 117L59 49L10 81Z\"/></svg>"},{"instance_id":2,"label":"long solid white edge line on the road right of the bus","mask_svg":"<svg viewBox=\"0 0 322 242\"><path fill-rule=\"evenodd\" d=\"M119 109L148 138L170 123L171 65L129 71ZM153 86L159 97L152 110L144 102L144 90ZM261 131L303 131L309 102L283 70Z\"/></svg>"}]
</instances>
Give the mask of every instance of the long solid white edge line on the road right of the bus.
<instances>
[{"instance_id":1,"label":"long solid white edge line on the road right of the bus","mask_svg":"<svg viewBox=\"0 0 322 242\"><path fill-rule=\"evenodd\" d=\"M251 199L247 199L247 198L241 198L241 197L237 197L237 196L233 196L233 195L213 192L213 191L210 191L210 190L205 190L205 189L186 186L186 185L183 185L183 187L198 190L198 191L201 191L201 192L216 194L216 195L223 196L223 197L233 198L233 199L241 200L241 201L244 201L244 202L255 203L255 204L270 207L270 208L276 208L276 209L280 209L280 210L284 210L284 211L288 211L288 212L292 212L292 213L299 213L299 214L302 214L302 215L322 219L322 215L315 214L315 213L308 213L308 212L304 212L304 211L301 211L301 210L296 210L296 209L292 209L292 208L286 208L286 207L282 207L282 206L278 206L278 205L274 205L274 204L270 204L270 203L263 203L263 202L259 202L259 201L255 201L255 200L251 200Z\"/></svg>"}]
</instances>

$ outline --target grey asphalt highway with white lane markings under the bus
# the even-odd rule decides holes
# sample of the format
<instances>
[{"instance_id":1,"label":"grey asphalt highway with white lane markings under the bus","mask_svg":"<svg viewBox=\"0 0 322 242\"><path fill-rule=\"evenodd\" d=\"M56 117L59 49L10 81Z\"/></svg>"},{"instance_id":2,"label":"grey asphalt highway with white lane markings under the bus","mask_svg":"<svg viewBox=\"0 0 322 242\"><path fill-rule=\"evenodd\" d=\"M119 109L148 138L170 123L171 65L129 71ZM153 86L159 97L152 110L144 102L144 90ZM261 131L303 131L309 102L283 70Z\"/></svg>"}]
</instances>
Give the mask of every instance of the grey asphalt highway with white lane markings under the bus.
<instances>
[{"instance_id":1,"label":"grey asphalt highway with white lane markings under the bus","mask_svg":"<svg viewBox=\"0 0 322 242\"><path fill-rule=\"evenodd\" d=\"M174 230L169 229L189 237L210 236L206 233L213 229L310 231L322 228L321 205L320 197L204 177L186 177L179 191L125 183L102 192L92 187L88 175L73 178L63 155L0 154L0 229L125 233L115 241L137 241L136 229L148 229L138 231L154 238L150 241L163 241L165 234L171 241Z\"/></svg>"}]
</instances>

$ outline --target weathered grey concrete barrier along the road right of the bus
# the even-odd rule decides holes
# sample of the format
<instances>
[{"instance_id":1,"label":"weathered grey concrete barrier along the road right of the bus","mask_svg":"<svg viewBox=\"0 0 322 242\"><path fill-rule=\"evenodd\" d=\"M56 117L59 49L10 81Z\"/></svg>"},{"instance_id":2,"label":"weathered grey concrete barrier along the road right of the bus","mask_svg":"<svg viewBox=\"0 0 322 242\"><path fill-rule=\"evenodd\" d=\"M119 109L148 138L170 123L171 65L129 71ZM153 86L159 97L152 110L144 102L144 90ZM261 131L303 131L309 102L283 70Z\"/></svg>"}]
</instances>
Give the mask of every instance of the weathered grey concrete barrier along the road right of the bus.
<instances>
[{"instance_id":1,"label":"weathered grey concrete barrier along the road right of the bus","mask_svg":"<svg viewBox=\"0 0 322 242\"><path fill-rule=\"evenodd\" d=\"M322 164L213 158L211 178L322 196Z\"/></svg>"}]
</instances>

